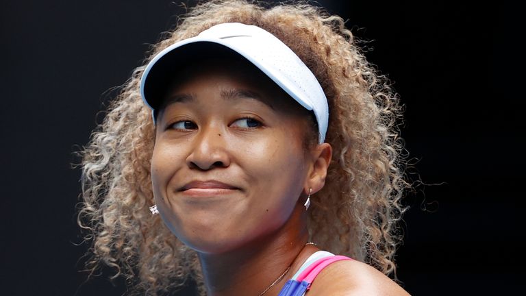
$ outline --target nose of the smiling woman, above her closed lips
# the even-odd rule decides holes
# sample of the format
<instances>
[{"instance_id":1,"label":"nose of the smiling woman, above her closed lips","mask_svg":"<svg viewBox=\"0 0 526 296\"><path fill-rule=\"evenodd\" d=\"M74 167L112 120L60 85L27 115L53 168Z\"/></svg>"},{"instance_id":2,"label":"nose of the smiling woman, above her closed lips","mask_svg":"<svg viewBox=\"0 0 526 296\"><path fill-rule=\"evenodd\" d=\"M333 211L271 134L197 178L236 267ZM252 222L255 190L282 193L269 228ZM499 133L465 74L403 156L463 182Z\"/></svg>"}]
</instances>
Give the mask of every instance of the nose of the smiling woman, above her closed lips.
<instances>
[{"instance_id":1,"label":"nose of the smiling woman, above her closed lips","mask_svg":"<svg viewBox=\"0 0 526 296\"><path fill-rule=\"evenodd\" d=\"M186 158L190 169L208 171L230 165L227 143L221 128L201 127L193 141L192 151Z\"/></svg>"}]
</instances>

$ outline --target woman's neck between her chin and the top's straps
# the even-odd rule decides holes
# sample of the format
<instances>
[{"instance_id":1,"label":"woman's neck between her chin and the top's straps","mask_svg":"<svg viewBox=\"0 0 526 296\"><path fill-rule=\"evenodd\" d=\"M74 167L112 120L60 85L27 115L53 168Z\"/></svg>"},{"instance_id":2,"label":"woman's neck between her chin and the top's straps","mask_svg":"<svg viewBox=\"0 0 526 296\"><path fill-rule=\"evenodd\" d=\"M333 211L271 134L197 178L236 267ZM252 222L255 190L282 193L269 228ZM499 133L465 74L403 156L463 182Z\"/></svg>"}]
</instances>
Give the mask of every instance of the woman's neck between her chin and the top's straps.
<instances>
[{"instance_id":1,"label":"woman's neck between her chin and the top's straps","mask_svg":"<svg viewBox=\"0 0 526 296\"><path fill-rule=\"evenodd\" d=\"M277 295L303 261L316 251L308 240L305 210L299 208L277 232L227 251L199 254L208 295L258 296L291 267L265 295ZM298 223L303 227L298 227Z\"/></svg>"}]
</instances>

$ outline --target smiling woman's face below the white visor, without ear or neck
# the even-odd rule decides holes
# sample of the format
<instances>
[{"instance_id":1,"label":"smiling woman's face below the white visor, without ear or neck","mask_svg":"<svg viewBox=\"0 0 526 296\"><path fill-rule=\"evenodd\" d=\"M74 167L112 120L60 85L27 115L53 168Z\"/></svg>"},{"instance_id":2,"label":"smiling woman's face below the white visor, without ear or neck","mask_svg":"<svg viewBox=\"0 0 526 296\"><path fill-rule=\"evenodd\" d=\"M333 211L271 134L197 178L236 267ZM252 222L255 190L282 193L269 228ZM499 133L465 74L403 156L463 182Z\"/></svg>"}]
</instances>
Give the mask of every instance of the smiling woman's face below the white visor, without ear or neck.
<instances>
[{"instance_id":1,"label":"smiling woman's face below the white visor, without ear or neck","mask_svg":"<svg viewBox=\"0 0 526 296\"><path fill-rule=\"evenodd\" d=\"M307 111L242 62L181 73L158 116L151 160L164 223L203 253L273 234L308 186Z\"/></svg>"}]
</instances>

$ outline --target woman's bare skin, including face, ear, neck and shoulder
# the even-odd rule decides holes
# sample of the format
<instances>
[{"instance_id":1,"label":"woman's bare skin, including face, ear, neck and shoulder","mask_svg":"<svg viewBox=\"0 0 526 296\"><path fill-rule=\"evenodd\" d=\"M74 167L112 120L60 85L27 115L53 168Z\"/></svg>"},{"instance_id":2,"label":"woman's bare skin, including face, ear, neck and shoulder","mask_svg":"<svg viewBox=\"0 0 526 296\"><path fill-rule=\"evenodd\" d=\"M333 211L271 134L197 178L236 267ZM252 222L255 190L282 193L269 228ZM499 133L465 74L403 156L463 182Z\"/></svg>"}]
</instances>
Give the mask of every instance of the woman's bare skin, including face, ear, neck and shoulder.
<instances>
[{"instance_id":1,"label":"woman's bare skin, including face, ear, neck and shoulder","mask_svg":"<svg viewBox=\"0 0 526 296\"><path fill-rule=\"evenodd\" d=\"M305 245L303 204L325 184L331 147L305 149L307 110L246 62L208 60L181 73L164 98L151 160L161 217L199 254L208 295L259 295L291 266L265 294L277 295L318 250ZM385 287L367 295L405 295L384 293L398 286L375 271L337 262L309 295L360 295L349 294L364 293L357 275Z\"/></svg>"}]
</instances>

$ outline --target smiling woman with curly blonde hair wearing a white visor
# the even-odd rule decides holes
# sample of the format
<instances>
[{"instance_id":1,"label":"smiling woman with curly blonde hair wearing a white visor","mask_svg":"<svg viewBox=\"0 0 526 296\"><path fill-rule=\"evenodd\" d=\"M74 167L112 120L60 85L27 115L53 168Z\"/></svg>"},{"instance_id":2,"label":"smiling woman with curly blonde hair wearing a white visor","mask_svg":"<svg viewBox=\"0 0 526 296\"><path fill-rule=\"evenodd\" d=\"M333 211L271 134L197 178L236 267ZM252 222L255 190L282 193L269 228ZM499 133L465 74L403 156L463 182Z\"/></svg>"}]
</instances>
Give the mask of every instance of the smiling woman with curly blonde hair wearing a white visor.
<instances>
[{"instance_id":1,"label":"smiling woman with curly blonde hair wearing a white visor","mask_svg":"<svg viewBox=\"0 0 526 296\"><path fill-rule=\"evenodd\" d=\"M386 276L406 187L398 116L338 16L199 5L84 151L88 265L152 295L188 277L208 295L407 295Z\"/></svg>"}]
</instances>

